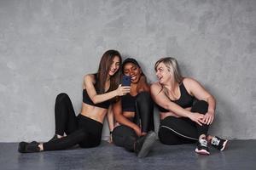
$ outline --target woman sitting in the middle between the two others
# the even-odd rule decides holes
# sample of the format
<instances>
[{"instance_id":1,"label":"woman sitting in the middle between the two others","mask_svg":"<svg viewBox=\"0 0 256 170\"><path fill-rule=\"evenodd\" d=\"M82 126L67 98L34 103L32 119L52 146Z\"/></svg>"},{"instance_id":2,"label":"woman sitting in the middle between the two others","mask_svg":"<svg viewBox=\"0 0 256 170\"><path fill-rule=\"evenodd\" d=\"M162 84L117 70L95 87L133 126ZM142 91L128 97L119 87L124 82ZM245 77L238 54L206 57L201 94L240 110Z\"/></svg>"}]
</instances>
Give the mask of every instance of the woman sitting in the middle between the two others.
<instances>
[{"instance_id":1,"label":"woman sitting in the middle between the two others","mask_svg":"<svg viewBox=\"0 0 256 170\"><path fill-rule=\"evenodd\" d=\"M149 86L136 59L125 59L125 76L131 77L131 91L113 104L117 126L113 129L113 144L136 152L138 157L148 155L156 140L154 131L154 105Z\"/></svg>"}]
</instances>

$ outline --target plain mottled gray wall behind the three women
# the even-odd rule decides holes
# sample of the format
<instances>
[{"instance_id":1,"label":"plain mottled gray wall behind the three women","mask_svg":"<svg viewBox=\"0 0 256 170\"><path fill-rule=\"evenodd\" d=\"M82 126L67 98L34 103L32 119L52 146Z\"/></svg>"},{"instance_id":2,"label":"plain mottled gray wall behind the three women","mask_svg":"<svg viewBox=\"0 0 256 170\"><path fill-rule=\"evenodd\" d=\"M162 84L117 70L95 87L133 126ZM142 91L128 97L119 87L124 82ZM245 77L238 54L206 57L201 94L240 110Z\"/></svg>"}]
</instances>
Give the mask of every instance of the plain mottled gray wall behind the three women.
<instances>
[{"instance_id":1,"label":"plain mottled gray wall behind the three women","mask_svg":"<svg viewBox=\"0 0 256 170\"><path fill-rule=\"evenodd\" d=\"M255 19L254 0L1 0L0 142L49 139L55 96L79 113L82 78L109 48L137 58L151 82L154 62L176 57L218 100L211 132L256 139Z\"/></svg>"}]
</instances>

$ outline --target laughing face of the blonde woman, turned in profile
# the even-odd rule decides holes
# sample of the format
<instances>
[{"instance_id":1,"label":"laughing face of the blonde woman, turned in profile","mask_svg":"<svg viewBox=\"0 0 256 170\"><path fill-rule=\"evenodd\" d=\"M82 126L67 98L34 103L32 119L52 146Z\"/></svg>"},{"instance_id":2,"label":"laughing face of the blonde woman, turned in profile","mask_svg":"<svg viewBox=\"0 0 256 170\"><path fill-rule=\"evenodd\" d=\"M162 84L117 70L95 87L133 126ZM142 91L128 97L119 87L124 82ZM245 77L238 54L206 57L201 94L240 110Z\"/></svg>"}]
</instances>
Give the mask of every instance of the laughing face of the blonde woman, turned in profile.
<instances>
[{"instance_id":1,"label":"laughing face of the blonde woman, turned in profile","mask_svg":"<svg viewBox=\"0 0 256 170\"><path fill-rule=\"evenodd\" d=\"M156 67L156 77L159 79L160 84L167 84L172 81L172 73L168 70L164 63L160 63Z\"/></svg>"}]
</instances>

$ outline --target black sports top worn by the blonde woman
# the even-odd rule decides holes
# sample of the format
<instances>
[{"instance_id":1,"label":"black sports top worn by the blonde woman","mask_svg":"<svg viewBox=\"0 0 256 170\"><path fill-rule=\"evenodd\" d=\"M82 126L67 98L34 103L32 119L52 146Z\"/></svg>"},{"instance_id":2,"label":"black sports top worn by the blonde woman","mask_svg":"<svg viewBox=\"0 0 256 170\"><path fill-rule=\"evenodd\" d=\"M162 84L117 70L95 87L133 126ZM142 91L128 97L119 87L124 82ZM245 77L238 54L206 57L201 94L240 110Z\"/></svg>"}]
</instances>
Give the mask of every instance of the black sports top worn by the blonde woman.
<instances>
[{"instance_id":1,"label":"black sports top worn by the blonde woman","mask_svg":"<svg viewBox=\"0 0 256 170\"><path fill-rule=\"evenodd\" d=\"M183 82L179 85L180 89L180 98L176 100L170 99L172 102L176 103L177 105L181 106L182 108L188 108L193 105L193 101L195 97L191 96L187 89L184 87ZM160 105L157 105L160 112L169 112L165 108L162 108Z\"/></svg>"}]
</instances>

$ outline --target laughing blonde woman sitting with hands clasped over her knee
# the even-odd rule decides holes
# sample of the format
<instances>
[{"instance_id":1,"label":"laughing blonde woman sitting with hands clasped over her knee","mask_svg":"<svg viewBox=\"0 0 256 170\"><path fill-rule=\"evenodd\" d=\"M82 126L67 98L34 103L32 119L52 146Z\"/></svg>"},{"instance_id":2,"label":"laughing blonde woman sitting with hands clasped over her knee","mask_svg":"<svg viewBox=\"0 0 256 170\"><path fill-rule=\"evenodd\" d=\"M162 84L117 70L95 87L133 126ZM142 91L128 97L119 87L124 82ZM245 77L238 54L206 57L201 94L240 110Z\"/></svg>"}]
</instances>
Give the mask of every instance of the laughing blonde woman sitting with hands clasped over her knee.
<instances>
[{"instance_id":1,"label":"laughing blonde woman sitting with hands clasped over her knee","mask_svg":"<svg viewBox=\"0 0 256 170\"><path fill-rule=\"evenodd\" d=\"M159 59L154 70L159 82L152 84L151 94L160 110L160 142L188 144L198 141L195 152L205 155L210 154L208 143L224 150L228 140L207 133L215 112L212 95L194 79L182 77L176 59Z\"/></svg>"}]
</instances>

